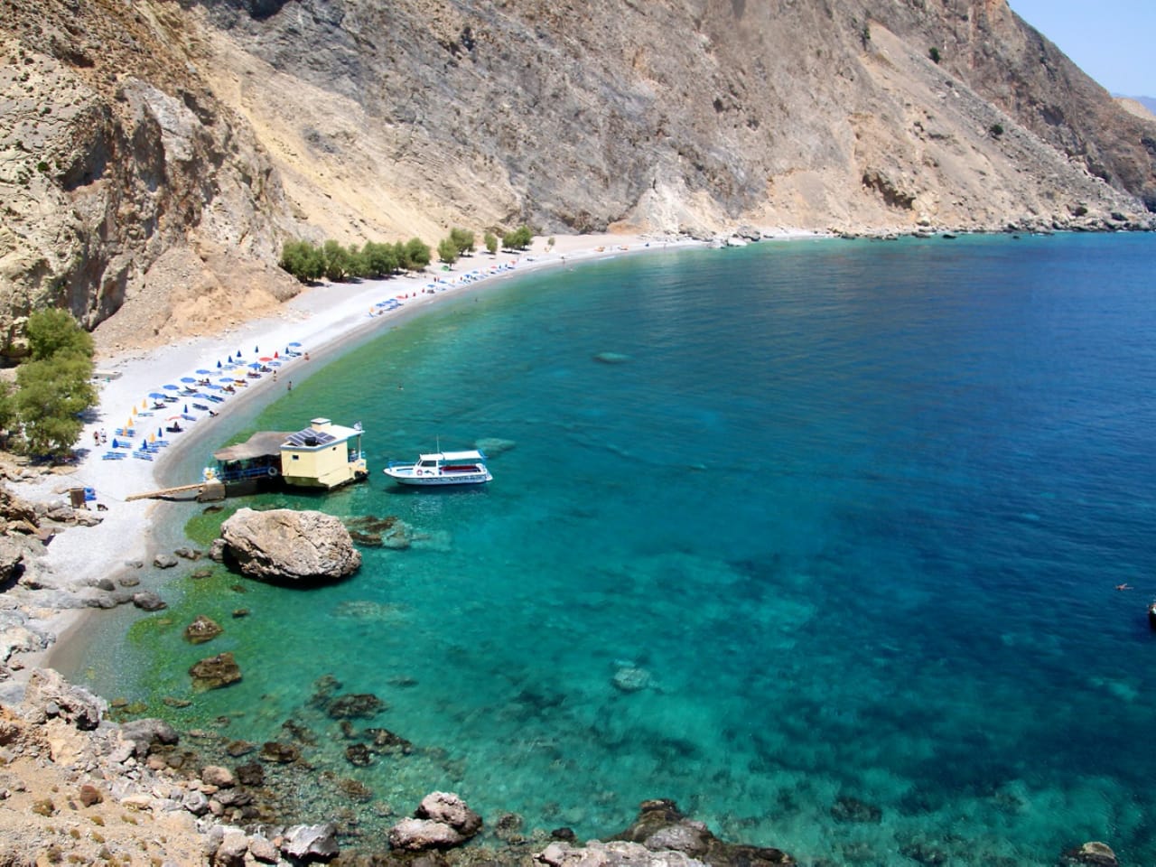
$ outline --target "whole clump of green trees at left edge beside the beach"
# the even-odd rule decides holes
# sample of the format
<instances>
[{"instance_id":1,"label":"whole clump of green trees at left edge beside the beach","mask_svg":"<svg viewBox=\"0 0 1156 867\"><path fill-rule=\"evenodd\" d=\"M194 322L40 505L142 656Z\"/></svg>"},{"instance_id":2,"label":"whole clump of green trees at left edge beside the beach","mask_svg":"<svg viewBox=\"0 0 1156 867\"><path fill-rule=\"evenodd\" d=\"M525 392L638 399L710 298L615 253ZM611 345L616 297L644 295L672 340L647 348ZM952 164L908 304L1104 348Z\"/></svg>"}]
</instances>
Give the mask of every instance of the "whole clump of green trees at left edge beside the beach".
<instances>
[{"instance_id":1,"label":"whole clump of green trees at left edge beside the beach","mask_svg":"<svg viewBox=\"0 0 1156 867\"><path fill-rule=\"evenodd\" d=\"M28 358L16 368L16 381L0 383L0 428L17 453L64 458L97 400L92 335L59 309L30 313L25 334Z\"/></svg>"}]
</instances>

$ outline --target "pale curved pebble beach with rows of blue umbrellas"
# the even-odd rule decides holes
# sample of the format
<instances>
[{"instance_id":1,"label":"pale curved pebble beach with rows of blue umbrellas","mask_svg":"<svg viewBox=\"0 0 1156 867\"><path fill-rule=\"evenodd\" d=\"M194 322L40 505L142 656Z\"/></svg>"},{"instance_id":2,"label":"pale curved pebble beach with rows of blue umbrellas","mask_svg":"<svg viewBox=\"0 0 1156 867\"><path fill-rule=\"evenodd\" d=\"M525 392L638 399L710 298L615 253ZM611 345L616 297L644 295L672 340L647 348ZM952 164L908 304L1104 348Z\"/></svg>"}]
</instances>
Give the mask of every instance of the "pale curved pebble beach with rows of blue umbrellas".
<instances>
[{"instance_id":1,"label":"pale curved pebble beach with rows of blue umbrellas","mask_svg":"<svg viewBox=\"0 0 1156 867\"><path fill-rule=\"evenodd\" d=\"M133 494L156 490L163 468L191 449L213 446L212 435L222 417L242 402L273 400L281 390L288 387L294 376L302 377L305 365L319 364L326 356L339 351L343 343L372 331L397 324L408 316L435 304L450 295L467 288L477 288L527 271L546 267L569 266L573 262L596 260L637 251L654 251L674 246L696 245L690 238L647 238L644 236L556 236L553 246L544 238L535 238L528 252L520 255L488 253L474 254L460 260L450 272L431 266L425 273L385 281L365 281L357 284L325 284L302 291L287 302L276 317L246 323L236 328L212 336L190 339L181 343L151 351L129 351L114 358L98 361L97 369L110 376L101 381L99 405L94 421L86 425L77 445L81 460L75 472L44 476L35 483L14 484L21 496L36 501L67 499L71 487L88 487L96 492L96 502L106 506L102 511L103 521L95 527L75 527L61 533L46 549L39 563L42 580L46 586L80 593L102 578L113 577L126 562L149 562L154 556L151 544L150 516L155 506L151 501L125 502ZM474 274L477 276L469 277ZM435 281L442 281L435 283ZM437 288L430 288L436 286ZM401 306L384 311L377 305L391 298L399 298ZM371 314L371 311L373 313ZM296 351L302 356L287 358L284 351L291 343L299 343ZM282 366L277 368L276 381L272 373L260 379L247 379L245 370L217 370L217 362L227 363L230 355L238 354L244 363L260 357L272 357L277 353ZM307 353L307 360L306 354ZM164 385L184 386L181 378L205 379L195 371L210 371L207 377L214 384L224 376L236 375L250 383L238 387L235 395L224 397L220 403L197 398L179 397L172 409L154 410L150 393L165 393ZM301 372L298 372L301 371ZM191 386L195 387L195 386ZM168 390L169 393L178 394ZM208 412L197 410L192 403L202 403L218 413L213 417ZM195 422L181 420L181 433L165 433L171 445L162 449L153 460L132 457L132 450L113 450L112 440L128 439L134 450L146 442L157 428L171 424L171 416L178 415L185 406ZM144 413L142 416L141 413ZM134 421L135 420L135 421ZM133 437L118 436L116 430L134 423ZM304 425L307 420L303 420ZM108 443L94 444L94 431L105 431ZM206 442L209 440L209 442ZM110 451L121 451L120 460L105 460ZM198 480L190 479L188 482ZM59 637L65 630L76 625L88 609L43 612L43 622ZM43 665L42 654L27 654L22 661L29 668Z\"/></svg>"}]
</instances>

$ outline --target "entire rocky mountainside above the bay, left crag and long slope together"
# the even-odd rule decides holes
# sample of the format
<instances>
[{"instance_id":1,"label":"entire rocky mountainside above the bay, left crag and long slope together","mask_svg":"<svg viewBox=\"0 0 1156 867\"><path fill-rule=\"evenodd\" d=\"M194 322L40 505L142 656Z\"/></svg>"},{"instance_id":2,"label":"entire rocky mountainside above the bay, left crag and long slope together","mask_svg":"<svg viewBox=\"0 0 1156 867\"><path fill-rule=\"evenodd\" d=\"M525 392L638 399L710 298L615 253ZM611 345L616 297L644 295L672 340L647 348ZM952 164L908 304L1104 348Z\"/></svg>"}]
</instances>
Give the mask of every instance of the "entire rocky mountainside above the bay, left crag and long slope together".
<instances>
[{"instance_id":1,"label":"entire rocky mountainside above the bay, left crag and long slope together","mask_svg":"<svg viewBox=\"0 0 1156 867\"><path fill-rule=\"evenodd\" d=\"M1006 0L0 0L0 336L294 291L288 237L1148 225L1156 123ZM128 312L133 312L132 316ZM119 324L118 324L119 321Z\"/></svg>"}]
</instances>

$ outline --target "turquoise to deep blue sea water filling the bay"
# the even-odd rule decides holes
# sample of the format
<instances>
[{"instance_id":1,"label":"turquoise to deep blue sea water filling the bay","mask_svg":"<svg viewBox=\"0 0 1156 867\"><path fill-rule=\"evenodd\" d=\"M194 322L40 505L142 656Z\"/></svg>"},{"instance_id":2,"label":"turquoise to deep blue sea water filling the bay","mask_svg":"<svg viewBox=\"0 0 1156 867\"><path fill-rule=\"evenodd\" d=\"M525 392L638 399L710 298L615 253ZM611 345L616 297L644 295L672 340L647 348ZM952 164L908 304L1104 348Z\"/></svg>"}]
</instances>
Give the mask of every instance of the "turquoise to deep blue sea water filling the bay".
<instances>
[{"instance_id":1,"label":"turquoise to deep blue sea water filling the bay","mask_svg":"<svg viewBox=\"0 0 1156 867\"><path fill-rule=\"evenodd\" d=\"M1156 864L1154 275L1141 234L768 240L383 319L177 468L325 416L363 424L368 483L165 516L202 548L240 506L408 547L306 588L147 572L170 607L102 615L68 674L298 744L301 809L362 845L440 790L488 835L668 798L803 865ZM479 443L487 486L380 472ZM194 646L199 614L224 632ZM195 692L223 651L243 680Z\"/></svg>"}]
</instances>

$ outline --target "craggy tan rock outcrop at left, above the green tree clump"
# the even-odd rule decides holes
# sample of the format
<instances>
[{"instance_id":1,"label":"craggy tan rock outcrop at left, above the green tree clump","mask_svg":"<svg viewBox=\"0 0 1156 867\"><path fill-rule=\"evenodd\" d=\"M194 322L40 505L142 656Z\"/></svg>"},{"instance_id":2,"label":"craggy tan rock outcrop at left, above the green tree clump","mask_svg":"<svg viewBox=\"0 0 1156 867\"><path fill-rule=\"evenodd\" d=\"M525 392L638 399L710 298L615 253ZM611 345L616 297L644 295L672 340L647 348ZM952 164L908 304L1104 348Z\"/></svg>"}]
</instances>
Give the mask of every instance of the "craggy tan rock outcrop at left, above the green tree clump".
<instances>
[{"instance_id":1,"label":"craggy tan rock outcrop at left, above the green tree clump","mask_svg":"<svg viewBox=\"0 0 1156 867\"><path fill-rule=\"evenodd\" d=\"M20 354L35 307L95 327L142 295L155 323L131 336L163 339L183 312L171 290L243 297L231 266L276 261L289 223L276 176L187 61L175 10L0 2L0 351ZM199 281L165 280L173 260ZM264 291L296 288L271 275Z\"/></svg>"}]
</instances>

